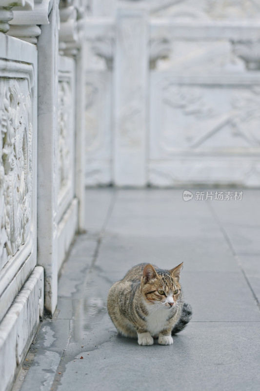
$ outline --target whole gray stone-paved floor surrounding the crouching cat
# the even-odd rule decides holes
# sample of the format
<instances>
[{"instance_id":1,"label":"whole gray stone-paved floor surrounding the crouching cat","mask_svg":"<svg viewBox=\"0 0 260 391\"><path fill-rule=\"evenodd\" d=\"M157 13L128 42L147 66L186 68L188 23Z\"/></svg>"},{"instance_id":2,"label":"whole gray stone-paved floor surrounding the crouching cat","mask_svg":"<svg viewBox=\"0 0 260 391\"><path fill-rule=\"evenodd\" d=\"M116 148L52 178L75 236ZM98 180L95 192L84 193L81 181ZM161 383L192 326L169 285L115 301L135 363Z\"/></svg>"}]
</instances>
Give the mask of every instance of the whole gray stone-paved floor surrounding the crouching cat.
<instances>
[{"instance_id":1,"label":"whole gray stone-paved floor surrounding the crouching cat","mask_svg":"<svg viewBox=\"0 0 260 391\"><path fill-rule=\"evenodd\" d=\"M86 214L57 316L43 321L14 390L260 390L260 191L184 202L181 190L88 190ZM140 262L181 261L194 315L174 344L117 336L113 282Z\"/></svg>"}]
</instances>

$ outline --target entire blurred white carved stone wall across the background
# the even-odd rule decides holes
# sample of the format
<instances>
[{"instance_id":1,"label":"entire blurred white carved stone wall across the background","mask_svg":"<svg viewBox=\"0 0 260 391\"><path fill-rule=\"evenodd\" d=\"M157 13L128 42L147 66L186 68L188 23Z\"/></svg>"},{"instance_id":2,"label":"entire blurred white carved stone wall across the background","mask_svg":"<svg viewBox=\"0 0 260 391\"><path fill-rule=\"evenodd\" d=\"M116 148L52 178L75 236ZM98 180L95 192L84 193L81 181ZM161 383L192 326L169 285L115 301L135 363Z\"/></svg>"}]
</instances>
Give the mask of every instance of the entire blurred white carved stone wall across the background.
<instances>
[{"instance_id":1,"label":"entire blurred white carved stone wall across the background","mask_svg":"<svg viewBox=\"0 0 260 391\"><path fill-rule=\"evenodd\" d=\"M87 186L260 186L255 1L94 1Z\"/></svg>"}]
</instances>

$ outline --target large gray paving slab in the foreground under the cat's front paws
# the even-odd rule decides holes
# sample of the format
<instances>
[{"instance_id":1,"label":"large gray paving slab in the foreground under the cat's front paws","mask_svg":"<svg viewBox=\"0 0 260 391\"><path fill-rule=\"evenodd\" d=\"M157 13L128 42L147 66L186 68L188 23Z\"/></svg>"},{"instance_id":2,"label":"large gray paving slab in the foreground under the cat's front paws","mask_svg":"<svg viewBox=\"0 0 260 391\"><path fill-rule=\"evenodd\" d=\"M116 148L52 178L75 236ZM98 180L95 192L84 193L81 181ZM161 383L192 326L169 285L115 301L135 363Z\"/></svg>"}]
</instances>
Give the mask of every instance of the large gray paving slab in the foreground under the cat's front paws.
<instances>
[{"instance_id":1,"label":"large gray paving slab in the foreground under the cat's front paws","mask_svg":"<svg viewBox=\"0 0 260 391\"><path fill-rule=\"evenodd\" d=\"M108 333L64 365L56 390L258 390L259 338L259 323L193 323L173 345L145 348Z\"/></svg>"}]
</instances>

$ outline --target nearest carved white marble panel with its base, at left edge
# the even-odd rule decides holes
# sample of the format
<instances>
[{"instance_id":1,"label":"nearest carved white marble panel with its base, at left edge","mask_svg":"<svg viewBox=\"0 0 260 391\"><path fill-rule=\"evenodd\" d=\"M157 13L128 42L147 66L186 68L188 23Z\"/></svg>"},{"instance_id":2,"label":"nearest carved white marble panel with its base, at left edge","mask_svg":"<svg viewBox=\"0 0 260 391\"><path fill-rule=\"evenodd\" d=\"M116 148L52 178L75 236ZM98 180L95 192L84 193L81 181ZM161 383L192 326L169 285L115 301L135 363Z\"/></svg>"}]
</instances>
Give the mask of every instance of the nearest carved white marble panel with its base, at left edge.
<instances>
[{"instance_id":1,"label":"nearest carved white marble panel with its base, at left edge","mask_svg":"<svg viewBox=\"0 0 260 391\"><path fill-rule=\"evenodd\" d=\"M37 265L37 49L0 33L0 390L43 315Z\"/></svg>"}]
</instances>

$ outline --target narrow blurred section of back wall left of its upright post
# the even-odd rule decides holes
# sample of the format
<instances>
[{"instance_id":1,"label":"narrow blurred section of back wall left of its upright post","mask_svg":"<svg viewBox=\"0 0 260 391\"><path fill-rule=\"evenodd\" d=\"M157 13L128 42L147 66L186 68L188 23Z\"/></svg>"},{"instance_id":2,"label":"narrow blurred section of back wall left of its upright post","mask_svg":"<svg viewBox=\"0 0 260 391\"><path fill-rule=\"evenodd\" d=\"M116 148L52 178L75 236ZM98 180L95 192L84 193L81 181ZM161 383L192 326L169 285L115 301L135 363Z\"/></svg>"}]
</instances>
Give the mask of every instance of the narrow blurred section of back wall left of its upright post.
<instances>
[{"instance_id":1,"label":"narrow blurred section of back wall left of its upright post","mask_svg":"<svg viewBox=\"0 0 260 391\"><path fill-rule=\"evenodd\" d=\"M85 183L113 181L113 67L115 37L112 22L85 24Z\"/></svg>"}]
</instances>

